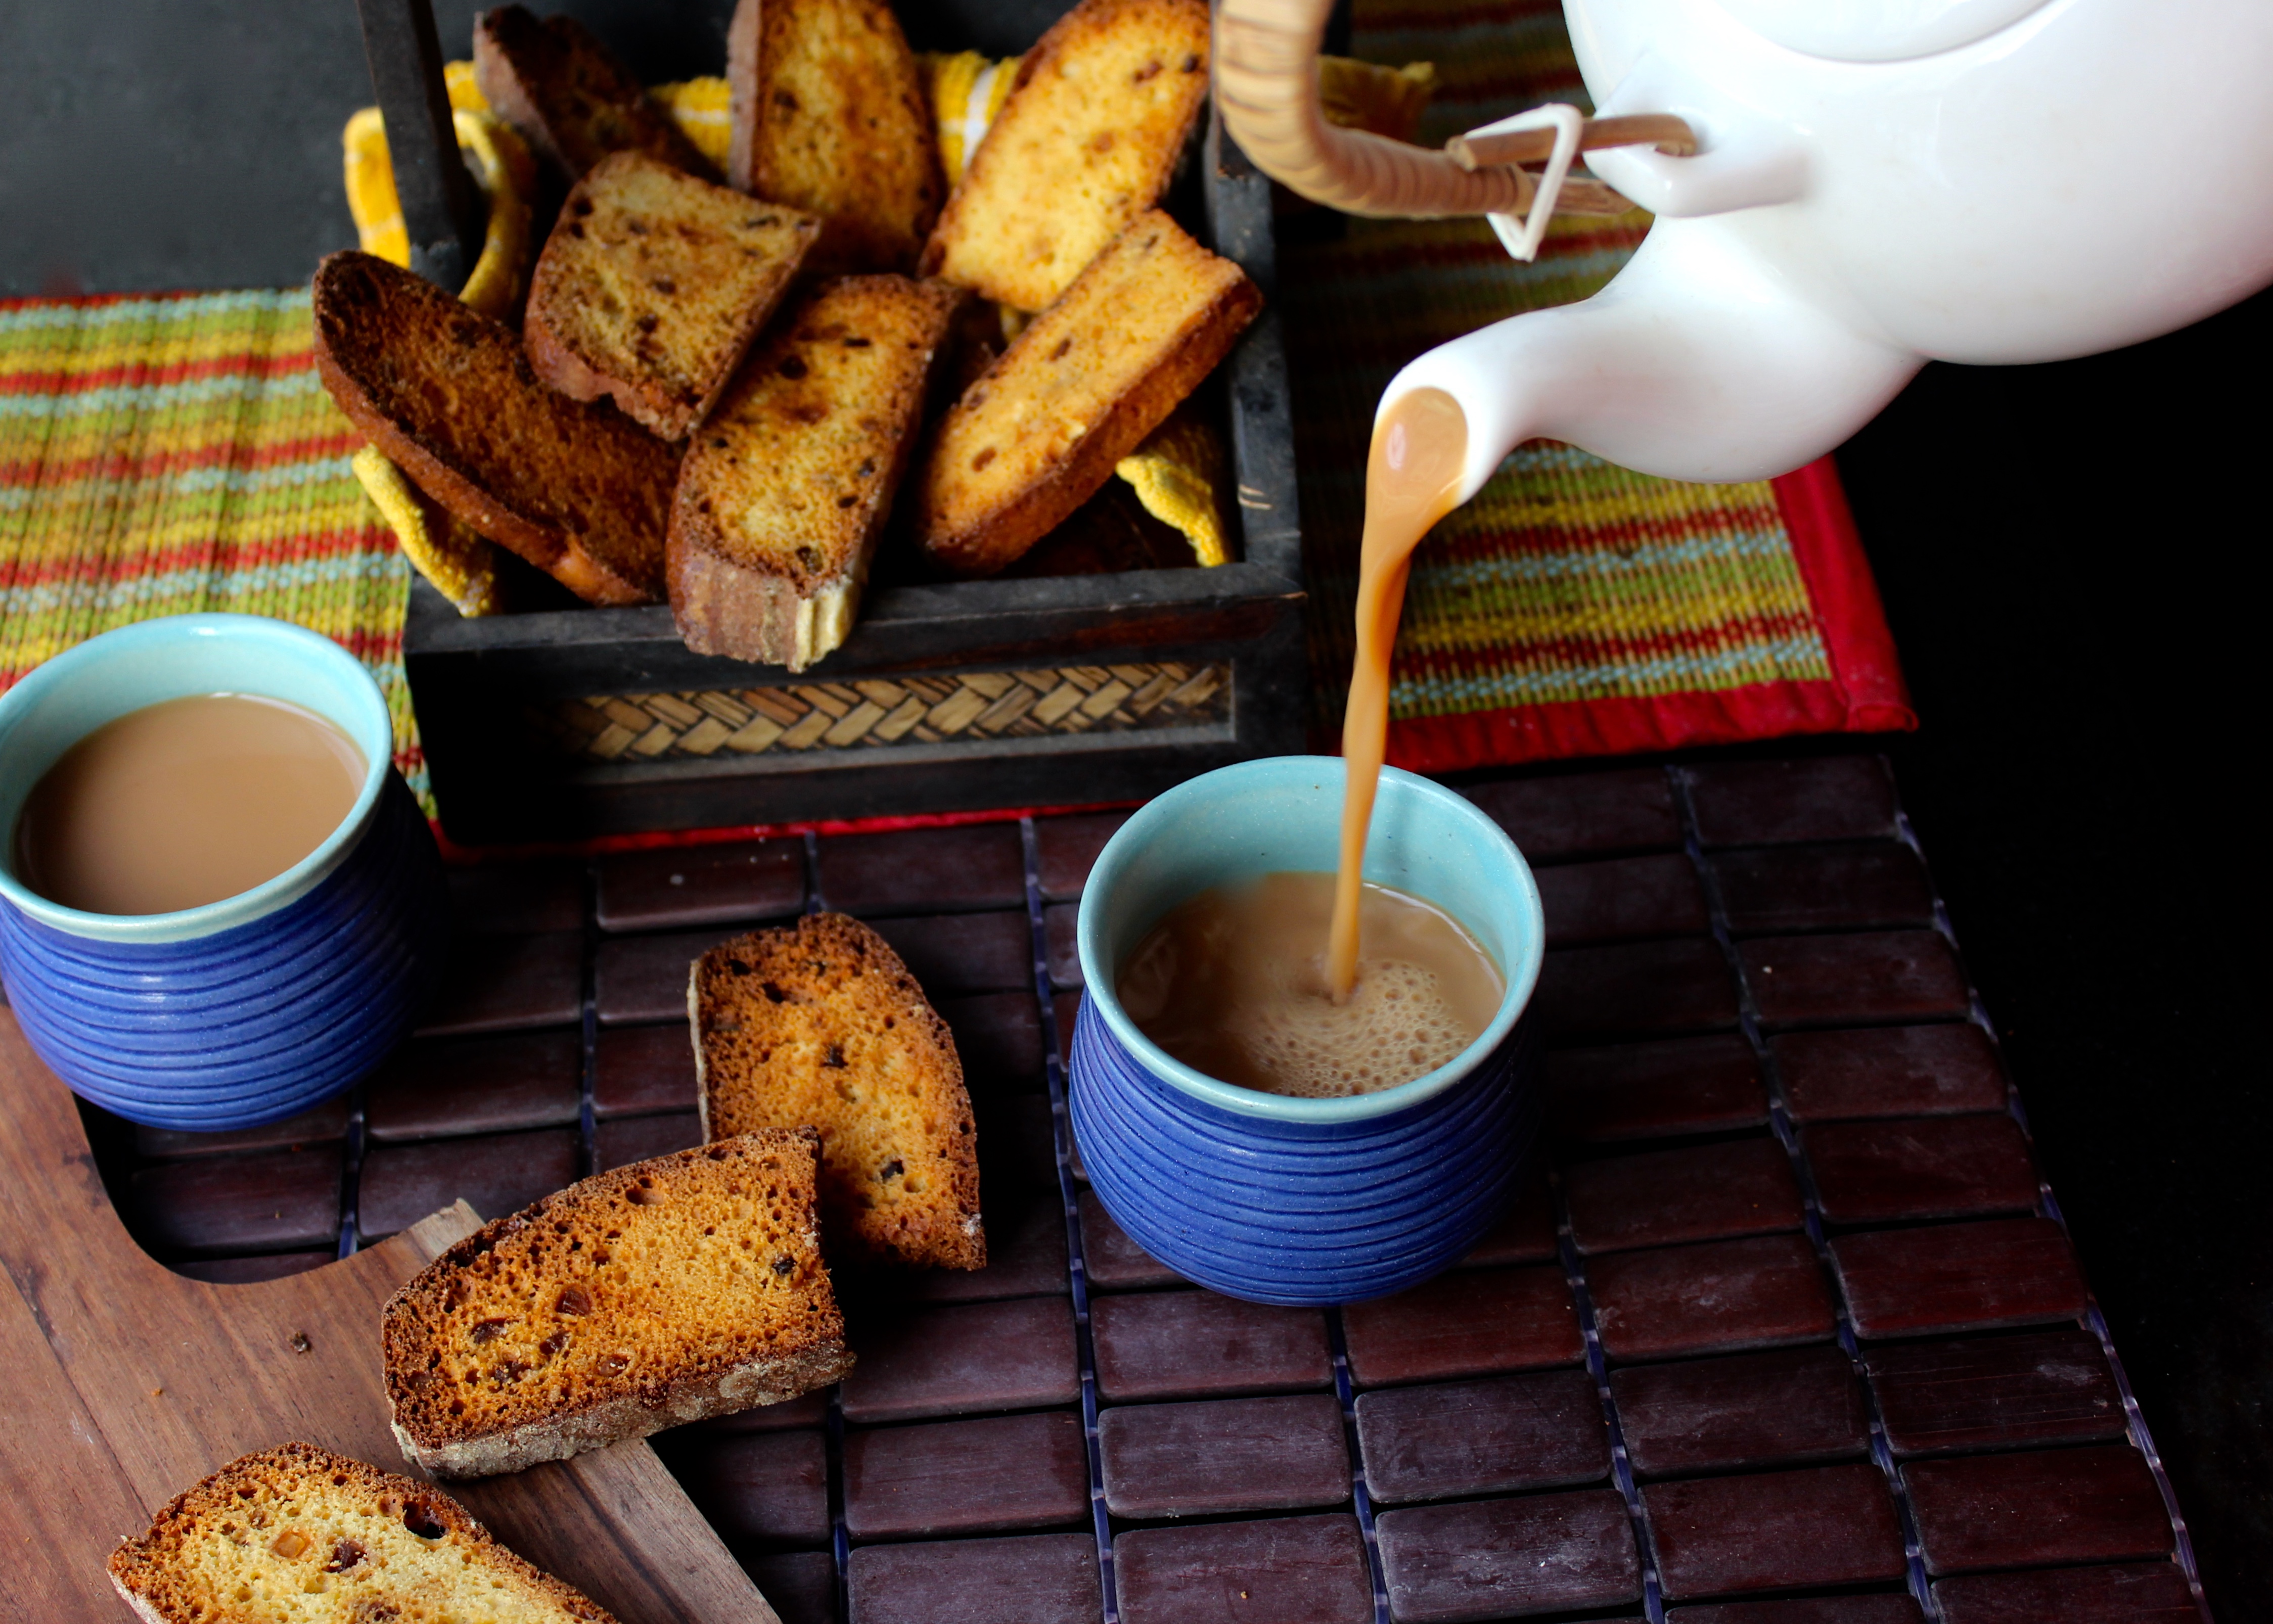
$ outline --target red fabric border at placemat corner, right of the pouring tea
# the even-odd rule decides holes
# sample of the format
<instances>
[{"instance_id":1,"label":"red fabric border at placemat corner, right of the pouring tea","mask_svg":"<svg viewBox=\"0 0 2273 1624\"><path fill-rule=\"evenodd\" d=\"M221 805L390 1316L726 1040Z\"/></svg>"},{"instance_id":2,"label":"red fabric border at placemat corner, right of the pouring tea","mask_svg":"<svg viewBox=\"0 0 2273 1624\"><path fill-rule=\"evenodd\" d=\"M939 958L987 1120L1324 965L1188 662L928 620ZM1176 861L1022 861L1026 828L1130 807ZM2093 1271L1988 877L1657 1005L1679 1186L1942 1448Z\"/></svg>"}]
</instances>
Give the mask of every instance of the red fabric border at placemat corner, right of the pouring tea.
<instances>
[{"instance_id":1,"label":"red fabric border at placemat corner, right of the pouring tea","mask_svg":"<svg viewBox=\"0 0 2273 1624\"><path fill-rule=\"evenodd\" d=\"M1887 611L1830 457L1773 482L1800 579L1816 609L1830 681L1673 693L1650 700L1566 700L1389 727L1389 761L1409 772L1518 765L1568 756L1630 756L1791 734L1887 734L1918 725Z\"/></svg>"}]
</instances>

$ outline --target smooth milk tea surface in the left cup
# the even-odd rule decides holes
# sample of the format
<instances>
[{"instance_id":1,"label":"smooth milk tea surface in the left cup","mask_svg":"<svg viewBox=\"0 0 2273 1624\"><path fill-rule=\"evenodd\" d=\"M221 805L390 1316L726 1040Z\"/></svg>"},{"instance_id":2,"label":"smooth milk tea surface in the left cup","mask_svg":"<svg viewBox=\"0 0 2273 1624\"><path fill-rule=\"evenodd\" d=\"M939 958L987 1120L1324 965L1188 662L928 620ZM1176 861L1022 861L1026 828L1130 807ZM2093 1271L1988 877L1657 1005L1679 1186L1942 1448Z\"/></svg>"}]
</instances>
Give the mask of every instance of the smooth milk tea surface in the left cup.
<instances>
[{"instance_id":1,"label":"smooth milk tea surface in the left cup","mask_svg":"<svg viewBox=\"0 0 2273 1624\"><path fill-rule=\"evenodd\" d=\"M205 693L105 722L16 820L16 877L66 909L173 913L275 879L355 809L364 752L282 700Z\"/></svg>"}]
</instances>

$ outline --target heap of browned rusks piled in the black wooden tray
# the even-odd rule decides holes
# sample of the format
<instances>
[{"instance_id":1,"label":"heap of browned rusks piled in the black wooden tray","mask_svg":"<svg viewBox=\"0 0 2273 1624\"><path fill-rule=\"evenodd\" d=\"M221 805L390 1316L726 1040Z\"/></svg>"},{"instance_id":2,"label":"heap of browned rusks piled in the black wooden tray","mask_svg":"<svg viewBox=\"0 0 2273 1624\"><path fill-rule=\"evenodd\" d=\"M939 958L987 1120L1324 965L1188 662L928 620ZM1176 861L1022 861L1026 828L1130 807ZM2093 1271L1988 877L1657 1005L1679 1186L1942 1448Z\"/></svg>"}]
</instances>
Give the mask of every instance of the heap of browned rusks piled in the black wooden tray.
<instances>
[{"instance_id":1,"label":"heap of browned rusks piled in the black wooden tray","mask_svg":"<svg viewBox=\"0 0 2273 1624\"><path fill-rule=\"evenodd\" d=\"M582 25L486 11L480 91L566 186L521 329L332 254L323 382L577 597L668 600L691 650L805 670L886 531L946 577L1016 563L1255 318L1159 209L1207 30L1205 0L1082 0L948 191L884 0L741 0L723 177Z\"/></svg>"}]
</instances>

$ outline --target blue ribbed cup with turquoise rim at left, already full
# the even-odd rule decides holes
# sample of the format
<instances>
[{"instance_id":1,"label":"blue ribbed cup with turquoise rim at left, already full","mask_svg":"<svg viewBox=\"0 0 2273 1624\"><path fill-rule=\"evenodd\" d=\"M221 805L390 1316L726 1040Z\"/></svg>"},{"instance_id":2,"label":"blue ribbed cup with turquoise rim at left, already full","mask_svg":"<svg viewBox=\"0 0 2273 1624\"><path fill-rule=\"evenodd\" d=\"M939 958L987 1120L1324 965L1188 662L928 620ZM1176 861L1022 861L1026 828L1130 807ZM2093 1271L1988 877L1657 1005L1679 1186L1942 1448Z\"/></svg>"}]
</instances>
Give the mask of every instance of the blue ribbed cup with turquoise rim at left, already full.
<instances>
[{"instance_id":1,"label":"blue ribbed cup with turquoise rim at left, already full","mask_svg":"<svg viewBox=\"0 0 2273 1624\"><path fill-rule=\"evenodd\" d=\"M289 700L352 738L364 784L339 829L275 879L177 913L84 913L23 886L16 818L48 768L105 722L200 693ZM355 656L282 620L143 620L0 695L0 972L23 1033L132 1122L218 1131L307 1111L384 1058L441 970L441 854L396 777L386 700Z\"/></svg>"}]
</instances>

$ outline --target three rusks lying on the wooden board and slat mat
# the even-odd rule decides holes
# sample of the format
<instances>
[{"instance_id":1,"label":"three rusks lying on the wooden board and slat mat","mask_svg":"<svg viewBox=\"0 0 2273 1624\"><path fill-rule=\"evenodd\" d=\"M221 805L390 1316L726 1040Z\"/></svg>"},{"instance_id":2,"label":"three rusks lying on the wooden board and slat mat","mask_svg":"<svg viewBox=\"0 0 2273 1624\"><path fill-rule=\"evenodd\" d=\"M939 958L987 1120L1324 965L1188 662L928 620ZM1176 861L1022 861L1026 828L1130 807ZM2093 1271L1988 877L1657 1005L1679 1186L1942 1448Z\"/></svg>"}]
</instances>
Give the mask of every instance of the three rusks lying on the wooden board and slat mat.
<instances>
[{"instance_id":1,"label":"three rusks lying on the wooden board and slat mat","mask_svg":"<svg viewBox=\"0 0 2273 1624\"><path fill-rule=\"evenodd\" d=\"M830 1258L986 1265L955 1033L882 936L818 913L718 943L686 1013L705 1145L482 1224L386 1304L396 1442L423 1472L521 1472L825 1388L855 1358ZM191 1485L109 1572L152 1624L614 1624L432 1483L309 1442Z\"/></svg>"}]
</instances>

